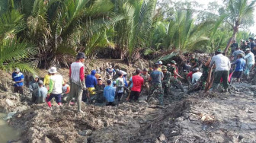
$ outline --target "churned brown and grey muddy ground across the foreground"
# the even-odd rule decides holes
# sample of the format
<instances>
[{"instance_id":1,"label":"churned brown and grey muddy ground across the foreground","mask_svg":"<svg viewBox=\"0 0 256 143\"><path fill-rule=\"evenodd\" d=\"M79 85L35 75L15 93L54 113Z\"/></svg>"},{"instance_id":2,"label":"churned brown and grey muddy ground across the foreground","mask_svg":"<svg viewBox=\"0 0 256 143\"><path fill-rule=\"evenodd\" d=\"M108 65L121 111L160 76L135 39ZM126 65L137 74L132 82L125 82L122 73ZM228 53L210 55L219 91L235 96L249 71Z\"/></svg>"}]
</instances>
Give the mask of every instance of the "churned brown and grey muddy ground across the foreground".
<instances>
[{"instance_id":1,"label":"churned brown and grey muddy ground across the foreground","mask_svg":"<svg viewBox=\"0 0 256 143\"><path fill-rule=\"evenodd\" d=\"M233 84L230 93L184 94L177 89L165 106L123 102L119 106L30 104L26 97L0 93L0 110L16 112L8 123L21 129L13 142L255 142L256 86ZM28 95L28 92L26 91ZM22 101L21 101L22 100ZM11 101L11 102L10 102Z\"/></svg>"}]
</instances>

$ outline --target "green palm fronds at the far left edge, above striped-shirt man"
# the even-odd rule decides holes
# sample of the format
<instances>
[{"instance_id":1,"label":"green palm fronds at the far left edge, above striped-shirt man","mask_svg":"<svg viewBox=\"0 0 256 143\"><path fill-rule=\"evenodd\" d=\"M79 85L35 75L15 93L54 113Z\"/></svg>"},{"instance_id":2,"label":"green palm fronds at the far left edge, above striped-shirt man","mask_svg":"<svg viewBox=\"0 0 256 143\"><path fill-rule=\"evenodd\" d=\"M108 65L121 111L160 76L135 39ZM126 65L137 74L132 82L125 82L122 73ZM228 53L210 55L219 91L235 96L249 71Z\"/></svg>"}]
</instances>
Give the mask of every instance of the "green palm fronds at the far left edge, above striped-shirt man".
<instances>
[{"instance_id":1,"label":"green palm fronds at the far left edge, above striped-shirt man","mask_svg":"<svg viewBox=\"0 0 256 143\"><path fill-rule=\"evenodd\" d=\"M26 40L19 40L17 33L24 30L23 15L16 10L5 11L0 16L0 68L10 71L21 68L22 71L34 72L34 69L23 62L36 53L35 48Z\"/></svg>"}]
</instances>

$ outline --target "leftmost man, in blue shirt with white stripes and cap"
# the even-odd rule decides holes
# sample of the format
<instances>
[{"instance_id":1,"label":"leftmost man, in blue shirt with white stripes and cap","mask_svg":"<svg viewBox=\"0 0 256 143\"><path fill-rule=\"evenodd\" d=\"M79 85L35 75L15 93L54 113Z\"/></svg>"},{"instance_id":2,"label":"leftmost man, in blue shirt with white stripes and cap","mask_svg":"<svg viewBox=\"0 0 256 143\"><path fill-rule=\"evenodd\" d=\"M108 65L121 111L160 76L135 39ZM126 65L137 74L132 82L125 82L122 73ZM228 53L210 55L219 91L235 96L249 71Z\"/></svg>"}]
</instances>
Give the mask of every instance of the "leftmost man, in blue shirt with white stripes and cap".
<instances>
[{"instance_id":1,"label":"leftmost man, in blue shirt with white stripes and cap","mask_svg":"<svg viewBox=\"0 0 256 143\"><path fill-rule=\"evenodd\" d=\"M20 93L23 95L24 75L20 72L20 69L15 68L11 77L12 81L14 81L14 93Z\"/></svg>"}]
</instances>

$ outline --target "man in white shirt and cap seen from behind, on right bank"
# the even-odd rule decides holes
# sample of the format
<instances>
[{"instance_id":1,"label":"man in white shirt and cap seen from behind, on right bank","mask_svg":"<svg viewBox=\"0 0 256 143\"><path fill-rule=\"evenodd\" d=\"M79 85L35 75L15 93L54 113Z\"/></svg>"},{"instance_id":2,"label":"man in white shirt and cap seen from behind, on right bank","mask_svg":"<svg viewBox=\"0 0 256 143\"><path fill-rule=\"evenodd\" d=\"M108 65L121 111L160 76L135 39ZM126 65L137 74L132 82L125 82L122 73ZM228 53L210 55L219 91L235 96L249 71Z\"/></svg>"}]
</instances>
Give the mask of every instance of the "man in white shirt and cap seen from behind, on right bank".
<instances>
[{"instance_id":1,"label":"man in white shirt and cap seen from behind, on right bank","mask_svg":"<svg viewBox=\"0 0 256 143\"><path fill-rule=\"evenodd\" d=\"M222 78L225 92L227 92L229 88L228 79L231 64L229 58L222 55L221 49L218 49L216 51L216 56L213 56L210 62L210 66L212 66L213 64L216 65L216 69L214 72L213 91L216 91L216 88L219 86L220 79Z\"/></svg>"}]
</instances>

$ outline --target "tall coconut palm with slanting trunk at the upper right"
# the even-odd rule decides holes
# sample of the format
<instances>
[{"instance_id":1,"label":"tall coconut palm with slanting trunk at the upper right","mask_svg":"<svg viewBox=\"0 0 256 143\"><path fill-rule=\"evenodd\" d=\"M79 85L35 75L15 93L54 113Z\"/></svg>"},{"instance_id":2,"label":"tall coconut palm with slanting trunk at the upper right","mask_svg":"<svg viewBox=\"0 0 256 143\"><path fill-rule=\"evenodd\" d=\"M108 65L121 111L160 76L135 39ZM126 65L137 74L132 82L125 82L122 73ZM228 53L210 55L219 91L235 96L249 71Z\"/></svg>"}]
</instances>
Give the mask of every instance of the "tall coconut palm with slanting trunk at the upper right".
<instances>
[{"instance_id":1,"label":"tall coconut palm with slanting trunk at the upper right","mask_svg":"<svg viewBox=\"0 0 256 143\"><path fill-rule=\"evenodd\" d=\"M239 27L245 26L253 17L255 2L255 0L229 0L227 22L232 26L233 33L226 46L225 53L228 52L229 46L235 40Z\"/></svg>"}]
</instances>

